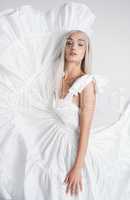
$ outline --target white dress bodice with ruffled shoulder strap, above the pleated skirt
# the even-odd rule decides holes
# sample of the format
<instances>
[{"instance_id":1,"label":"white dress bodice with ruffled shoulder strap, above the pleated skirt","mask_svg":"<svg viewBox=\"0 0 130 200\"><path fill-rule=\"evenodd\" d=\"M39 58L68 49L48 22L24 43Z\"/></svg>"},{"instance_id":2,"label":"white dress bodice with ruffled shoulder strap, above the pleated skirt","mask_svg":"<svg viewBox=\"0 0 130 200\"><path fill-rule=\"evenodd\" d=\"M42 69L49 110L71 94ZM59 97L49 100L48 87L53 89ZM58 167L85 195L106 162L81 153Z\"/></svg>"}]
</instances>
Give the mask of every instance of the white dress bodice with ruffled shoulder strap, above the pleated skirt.
<instances>
[{"instance_id":1,"label":"white dress bodice with ruffled shoulder strap, above the pleated skirt","mask_svg":"<svg viewBox=\"0 0 130 200\"><path fill-rule=\"evenodd\" d=\"M81 93L83 88L93 80L93 76L85 74L76 79L69 88L67 95L64 98L54 98L54 110L67 126L79 128L79 107L73 102L73 96Z\"/></svg>"}]
</instances>

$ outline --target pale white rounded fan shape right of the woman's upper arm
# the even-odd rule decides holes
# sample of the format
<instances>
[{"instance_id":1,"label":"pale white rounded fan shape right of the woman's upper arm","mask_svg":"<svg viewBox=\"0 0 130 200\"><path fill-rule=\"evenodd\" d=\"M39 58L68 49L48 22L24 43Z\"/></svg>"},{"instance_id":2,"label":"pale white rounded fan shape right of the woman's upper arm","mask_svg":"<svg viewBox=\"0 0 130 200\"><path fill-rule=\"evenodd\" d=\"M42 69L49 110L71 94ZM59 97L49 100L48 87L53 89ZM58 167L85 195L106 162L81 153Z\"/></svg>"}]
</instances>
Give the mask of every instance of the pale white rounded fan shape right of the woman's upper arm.
<instances>
[{"instance_id":1,"label":"pale white rounded fan shape right of the woman's upper arm","mask_svg":"<svg viewBox=\"0 0 130 200\"><path fill-rule=\"evenodd\" d=\"M125 88L110 84L110 79L104 75L93 74L96 80L96 108L92 127L102 130L116 123L130 103Z\"/></svg>"}]
</instances>

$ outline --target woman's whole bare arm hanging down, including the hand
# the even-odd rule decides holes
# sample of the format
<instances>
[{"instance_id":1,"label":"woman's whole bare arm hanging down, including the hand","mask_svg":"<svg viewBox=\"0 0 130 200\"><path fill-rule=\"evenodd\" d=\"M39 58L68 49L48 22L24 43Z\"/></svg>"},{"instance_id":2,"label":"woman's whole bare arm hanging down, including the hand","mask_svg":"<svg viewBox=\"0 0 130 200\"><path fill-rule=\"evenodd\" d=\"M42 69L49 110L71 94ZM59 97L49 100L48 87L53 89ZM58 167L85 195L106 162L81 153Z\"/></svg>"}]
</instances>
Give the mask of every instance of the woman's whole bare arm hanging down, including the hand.
<instances>
[{"instance_id":1,"label":"woman's whole bare arm hanging down, including the hand","mask_svg":"<svg viewBox=\"0 0 130 200\"><path fill-rule=\"evenodd\" d=\"M91 81L80 93L80 137L77 156L74 165L67 173L64 182L67 184L66 193L71 195L83 191L81 168L84 166L84 159L88 145L89 132L96 103L95 81Z\"/></svg>"}]
</instances>

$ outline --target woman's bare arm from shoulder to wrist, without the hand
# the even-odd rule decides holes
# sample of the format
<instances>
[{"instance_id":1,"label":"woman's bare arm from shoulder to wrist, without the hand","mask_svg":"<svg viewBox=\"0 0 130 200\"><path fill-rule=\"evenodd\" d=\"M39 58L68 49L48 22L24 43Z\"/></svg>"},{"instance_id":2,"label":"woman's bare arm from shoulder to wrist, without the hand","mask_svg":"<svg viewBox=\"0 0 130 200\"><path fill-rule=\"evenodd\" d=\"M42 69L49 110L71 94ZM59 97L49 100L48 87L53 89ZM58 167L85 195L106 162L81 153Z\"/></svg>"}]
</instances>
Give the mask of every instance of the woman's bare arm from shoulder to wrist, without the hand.
<instances>
[{"instance_id":1,"label":"woman's bare arm from shoulder to wrist, without the hand","mask_svg":"<svg viewBox=\"0 0 130 200\"><path fill-rule=\"evenodd\" d=\"M74 164L74 166L78 169L81 169L84 166L84 159L87 151L89 132L95 111L95 104L95 81L91 81L80 93L80 138L77 157Z\"/></svg>"}]
</instances>

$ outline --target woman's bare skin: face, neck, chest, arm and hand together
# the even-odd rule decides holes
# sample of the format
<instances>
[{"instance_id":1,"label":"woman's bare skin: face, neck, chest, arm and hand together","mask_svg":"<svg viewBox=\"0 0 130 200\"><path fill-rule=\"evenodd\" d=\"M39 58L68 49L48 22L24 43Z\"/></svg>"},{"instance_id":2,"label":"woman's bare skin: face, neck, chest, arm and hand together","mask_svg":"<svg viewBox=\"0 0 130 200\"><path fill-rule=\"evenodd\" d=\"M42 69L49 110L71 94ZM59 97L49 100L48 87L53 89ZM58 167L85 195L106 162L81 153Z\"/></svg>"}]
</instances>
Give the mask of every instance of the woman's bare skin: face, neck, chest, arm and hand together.
<instances>
[{"instance_id":1,"label":"woman's bare skin: face, neck, chest, arm and hand together","mask_svg":"<svg viewBox=\"0 0 130 200\"><path fill-rule=\"evenodd\" d=\"M87 43L84 33L72 33L65 47L64 90L69 89L73 81L84 74L81 70L81 61L86 50ZM76 53L76 55L72 55L71 52ZM67 94L67 91L64 93ZM66 194L70 192L71 195L77 195L80 191L83 191L81 170L85 163L89 132L95 110L95 82L91 81L81 93L73 97L73 101L80 108L80 137L75 163L67 173L64 183L66 184Z\"/></svg>"}]
</instances>

